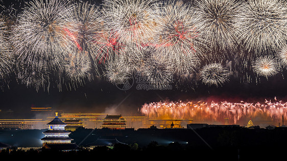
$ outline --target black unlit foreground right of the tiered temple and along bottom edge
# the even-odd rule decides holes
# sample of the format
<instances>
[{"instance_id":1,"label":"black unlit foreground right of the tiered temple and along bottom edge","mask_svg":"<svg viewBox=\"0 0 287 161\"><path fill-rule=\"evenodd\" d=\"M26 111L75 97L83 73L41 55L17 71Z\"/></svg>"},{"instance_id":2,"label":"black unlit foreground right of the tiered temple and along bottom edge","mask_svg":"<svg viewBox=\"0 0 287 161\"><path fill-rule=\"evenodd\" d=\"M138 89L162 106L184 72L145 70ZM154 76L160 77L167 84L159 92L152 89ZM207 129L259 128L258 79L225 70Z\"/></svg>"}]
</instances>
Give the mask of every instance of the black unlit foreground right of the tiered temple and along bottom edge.
<instances>
[{"instance_id":1,"label":"black unlit foreground right of the tiered temple and along bottom edge","mask_svg":"<svg viewBox=\"0 0 287 161\"><path fill-rule=\"evenodd\" d=\"M89 135L90 134L90 135ZM88 137L87 137L88 136ZM70 134L77 151L2 150L0 157L66 159L201 159L266 160L285 157L287 128L248 129L208 127L201 129L79 129ZM101 138L101 139L99 139ZM112 147L103 141L121 141ZM101 141L101 142L100 142ZM98 145L97 145L98 144ZM102 145L99 145L102 144ZM87 147L94 148L87 148Z\"/></svg>"}]
</instances>

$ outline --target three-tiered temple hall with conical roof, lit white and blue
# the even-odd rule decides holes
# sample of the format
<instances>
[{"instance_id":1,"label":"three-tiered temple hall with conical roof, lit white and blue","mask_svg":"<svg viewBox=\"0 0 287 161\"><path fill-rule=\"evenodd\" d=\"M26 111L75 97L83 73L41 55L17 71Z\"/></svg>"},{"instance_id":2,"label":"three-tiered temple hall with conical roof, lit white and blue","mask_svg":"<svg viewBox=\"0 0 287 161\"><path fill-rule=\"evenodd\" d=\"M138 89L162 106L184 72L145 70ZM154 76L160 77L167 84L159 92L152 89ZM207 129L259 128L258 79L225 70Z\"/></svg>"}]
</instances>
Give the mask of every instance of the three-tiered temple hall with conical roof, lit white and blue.
<instances>
[{"instance_id":1,"label":"three-tiered temple hall with conical roof, lit white and blue","mask_svg":"<svg viewBox=\"0 0 287 161\"><path fill-rule=\"evenodd\" d=\"M43 148L71 150L77 147L76 144L71 143L73 139L69 138L70 132L65 130L66 123L58 118L58 113L56 113L54 120L46 125L49 126L49 129L43 132L45 135L41 139Z\"/></svg>"}]
</instances>

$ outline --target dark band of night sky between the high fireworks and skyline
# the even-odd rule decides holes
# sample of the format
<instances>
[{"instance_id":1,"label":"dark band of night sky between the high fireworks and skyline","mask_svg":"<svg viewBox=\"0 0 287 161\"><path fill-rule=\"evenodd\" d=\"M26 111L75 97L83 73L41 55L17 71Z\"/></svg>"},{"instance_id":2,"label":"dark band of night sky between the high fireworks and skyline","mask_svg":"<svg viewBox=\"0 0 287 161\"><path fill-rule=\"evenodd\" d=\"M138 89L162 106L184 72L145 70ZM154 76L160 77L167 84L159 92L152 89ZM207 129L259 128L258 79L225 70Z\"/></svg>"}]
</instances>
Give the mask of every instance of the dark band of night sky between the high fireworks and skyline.
<instances>
[{"instance_id":1,"label":"dark band of night sky between the high fireworks and skyline","mask_svg":"<svg viewBox=\"0 0 287 161\"><path fill-rule=\"evenodd\" d=\"M9 3L15 2L4 0L2 3L9 6ZM261 77L260 81L258 84L248 84L231 79L223 87L207 87L200 82L198 85L182 83L178 88L175 84L171 84L172 90L149 91L137 90L134 84L131 89L124 91L108 83L104 78L95 78L76 90L70 91L64 88L59 92L57 88L50 88L49 92L43 89L37 92L34 88L27 88L12 79L9 88L5 85L0 93L0 110L2 113L12 110L17 112L19 118L29 118L33 117L26 115L31 106L52 107L53 110L63 110L65 113L135 114L144 103L164 100L264 102L265 99L273 101L275 96L278 100L287 100L285 92L287 81L282 74L277 74L268 80Z\"/></svg>"}]
</instances>

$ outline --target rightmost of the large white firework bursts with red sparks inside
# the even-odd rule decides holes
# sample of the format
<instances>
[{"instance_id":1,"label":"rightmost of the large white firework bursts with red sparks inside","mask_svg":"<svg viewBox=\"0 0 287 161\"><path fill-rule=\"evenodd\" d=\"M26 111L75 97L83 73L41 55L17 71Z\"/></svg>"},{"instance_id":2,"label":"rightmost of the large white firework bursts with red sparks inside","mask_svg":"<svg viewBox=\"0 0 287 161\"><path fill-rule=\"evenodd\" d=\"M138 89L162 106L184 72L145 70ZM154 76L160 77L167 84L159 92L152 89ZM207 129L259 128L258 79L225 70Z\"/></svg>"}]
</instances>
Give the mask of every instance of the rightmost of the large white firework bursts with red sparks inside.
<instances>
[{"instance_id":1,"label":"rightmost of the large white firework bursts with red sparks inside","mask_svg":"<svg viewBox=\"0 0 287 161\"><path fill-rule=\"evenodd\" d=\"M168 62L169 69L179 77L195 72L199 57L204 57L197 23L194 9L188 4L169 1L162 7L153 57Z\"/></svg>"}]
</instances>

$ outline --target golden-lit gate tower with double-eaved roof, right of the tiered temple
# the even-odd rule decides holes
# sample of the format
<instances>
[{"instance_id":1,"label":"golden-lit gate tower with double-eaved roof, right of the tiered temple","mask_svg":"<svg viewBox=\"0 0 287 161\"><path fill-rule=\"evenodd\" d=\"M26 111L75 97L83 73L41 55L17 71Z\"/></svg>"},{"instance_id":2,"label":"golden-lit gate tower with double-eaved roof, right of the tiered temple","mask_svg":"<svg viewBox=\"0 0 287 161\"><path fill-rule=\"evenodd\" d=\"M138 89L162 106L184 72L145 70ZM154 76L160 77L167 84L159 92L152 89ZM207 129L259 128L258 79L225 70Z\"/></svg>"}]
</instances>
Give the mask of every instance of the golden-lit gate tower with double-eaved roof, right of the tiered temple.
<instances>
[{"instance_id":1,"label":"golden-lit gate tower with double-eaved roof, right of the tiered temple","mask_svg":"<svg viewBox=\"0 0 287 161\"><path fill-rule=\"evenodd\" d=\"M102 128L109 129L125 129L126 128L126 120L122 117L122 115L107 115L103 119Z\"/></svg>"}]
</instances>

